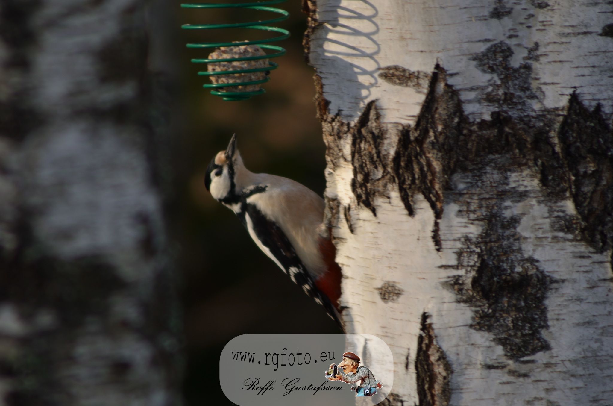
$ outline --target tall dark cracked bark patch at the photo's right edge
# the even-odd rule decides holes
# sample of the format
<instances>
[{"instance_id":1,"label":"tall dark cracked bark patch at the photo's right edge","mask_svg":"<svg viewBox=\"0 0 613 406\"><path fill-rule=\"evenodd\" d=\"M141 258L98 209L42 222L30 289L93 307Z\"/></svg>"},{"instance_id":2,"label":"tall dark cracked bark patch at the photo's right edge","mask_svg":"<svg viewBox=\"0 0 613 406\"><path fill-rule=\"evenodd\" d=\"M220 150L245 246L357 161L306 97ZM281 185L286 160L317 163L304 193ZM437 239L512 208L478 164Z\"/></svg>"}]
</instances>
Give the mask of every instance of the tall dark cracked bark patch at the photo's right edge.
<instances>
[{"instance_id":1,"label":"tall dark cracked bark patch at the photo's right edge","mask_svg":"<svg viewBox=\"0 0 613 406\"><path fill-rule=\"evenodd\" d=\"M590 112L573 93L557 135L562 162L568 170L562 181L569 184L582 219L584 239L600 252L608 250L613 240L611 127L604 120L600 105Z\"/></svg>"}]
</instances>

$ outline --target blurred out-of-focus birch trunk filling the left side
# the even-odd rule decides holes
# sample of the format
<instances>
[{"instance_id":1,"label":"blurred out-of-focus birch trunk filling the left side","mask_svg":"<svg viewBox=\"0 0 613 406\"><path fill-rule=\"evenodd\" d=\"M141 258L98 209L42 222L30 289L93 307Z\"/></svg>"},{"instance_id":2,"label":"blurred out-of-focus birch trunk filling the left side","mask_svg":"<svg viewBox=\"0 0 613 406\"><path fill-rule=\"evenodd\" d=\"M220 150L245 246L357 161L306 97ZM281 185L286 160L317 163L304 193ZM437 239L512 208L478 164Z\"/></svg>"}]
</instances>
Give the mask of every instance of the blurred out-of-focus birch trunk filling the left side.
<instances>
[{"instance_id":1,"label":"blurred out-of-focus birch trunk filling the left side","mask_svg":"<svg viewBox=\"0 0 613 406\"><path fill-rule=\"evenodd\" d=\"M0 404L177 405L145 2L0 2Z\"/></svg>"}]
</instances>

